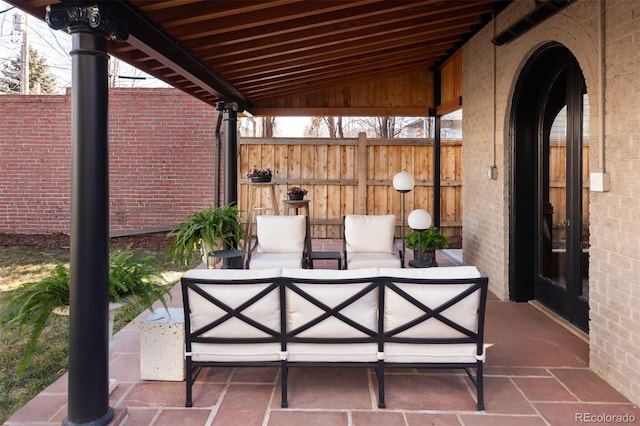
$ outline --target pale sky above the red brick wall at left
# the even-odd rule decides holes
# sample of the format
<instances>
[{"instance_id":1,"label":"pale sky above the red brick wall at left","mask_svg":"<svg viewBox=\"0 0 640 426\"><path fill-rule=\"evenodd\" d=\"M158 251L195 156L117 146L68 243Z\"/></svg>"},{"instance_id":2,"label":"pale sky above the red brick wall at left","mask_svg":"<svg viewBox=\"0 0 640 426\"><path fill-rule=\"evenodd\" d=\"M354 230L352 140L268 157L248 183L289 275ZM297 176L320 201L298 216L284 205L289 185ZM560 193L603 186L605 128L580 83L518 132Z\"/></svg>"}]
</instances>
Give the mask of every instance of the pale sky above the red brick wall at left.
<instances>
[{"instance_id":1,"label":"pale sky above the red brick wall at left","mask_svg":"<svg viewBox=\"0 0 640 426\"><path fill-rule=\"evenodd\" d=\"M71 36L64 31L54 31L46 22L12 7L0 1L0 70L4 68L5 63L20 56L22 36L20 32L14 30L14 15L22 15L26 18L29 45L45 58L49 70L56 76L58 93L64 93L65 88L71 86L71 56L69 55ZM112 60L116 59L112 58ZM145 79L118 78L116 80L118 87L168 87L164 82L124 62L119 62L118 75L145 77Z\"/></svg>"}]
</instances>

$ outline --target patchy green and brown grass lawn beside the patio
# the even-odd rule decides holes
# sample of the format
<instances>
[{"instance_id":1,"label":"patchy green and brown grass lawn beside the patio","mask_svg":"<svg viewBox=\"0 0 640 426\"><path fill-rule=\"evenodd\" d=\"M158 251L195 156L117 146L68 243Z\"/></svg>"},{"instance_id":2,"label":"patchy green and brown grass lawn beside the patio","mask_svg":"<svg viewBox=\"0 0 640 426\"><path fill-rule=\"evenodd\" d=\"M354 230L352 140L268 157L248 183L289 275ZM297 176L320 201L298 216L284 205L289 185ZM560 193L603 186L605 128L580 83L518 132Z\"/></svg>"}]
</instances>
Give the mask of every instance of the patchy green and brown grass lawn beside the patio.
<instances>
[{"instance_id":1,"label":"patchy green and brown grass lawn beside the patio","mask_svg":"<svg viewBox=\"0 0 640 426\"><path fill-rule=\"evenodd\" d=\"M180 276L180 268L167 259L164 248L137 249L136 254L153 256L165 272L168 285L175 284ZM26 282L45 277L54 267L51 257L69 260L68 248L41 248L33 246L0 246L0 295ZM129 303L116 313L114 332L137 317L144 307ZM15 411L25 405L44 388L56 381L67 371L68 363L68 318L53 316L39 339L36 355L32 358L26 373L16 377L16 370L22 357L27 336L6 332L0 324L0 424Z\"/></svg>"}]
</instances>

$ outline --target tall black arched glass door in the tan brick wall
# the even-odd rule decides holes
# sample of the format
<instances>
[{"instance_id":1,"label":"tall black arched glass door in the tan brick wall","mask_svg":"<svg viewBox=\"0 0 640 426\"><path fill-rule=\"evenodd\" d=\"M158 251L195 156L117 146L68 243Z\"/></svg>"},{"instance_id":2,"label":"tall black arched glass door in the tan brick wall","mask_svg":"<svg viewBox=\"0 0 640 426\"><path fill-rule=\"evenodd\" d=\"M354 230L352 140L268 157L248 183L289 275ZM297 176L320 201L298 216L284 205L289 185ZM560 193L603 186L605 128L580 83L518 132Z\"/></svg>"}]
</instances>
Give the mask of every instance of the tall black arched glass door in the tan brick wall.
<instances>
[{"instance_id":1,"label":"tall black arched glass door in the tan brick wall","mask_svg":"<svg viewBox=\"0 0 640 426\"><path fill-rule=\"evenodd\" d=\"M550 44L532 56L512 113L510 290L588 330L586 87L576 59Z\"/></svg>"}]
</instances>

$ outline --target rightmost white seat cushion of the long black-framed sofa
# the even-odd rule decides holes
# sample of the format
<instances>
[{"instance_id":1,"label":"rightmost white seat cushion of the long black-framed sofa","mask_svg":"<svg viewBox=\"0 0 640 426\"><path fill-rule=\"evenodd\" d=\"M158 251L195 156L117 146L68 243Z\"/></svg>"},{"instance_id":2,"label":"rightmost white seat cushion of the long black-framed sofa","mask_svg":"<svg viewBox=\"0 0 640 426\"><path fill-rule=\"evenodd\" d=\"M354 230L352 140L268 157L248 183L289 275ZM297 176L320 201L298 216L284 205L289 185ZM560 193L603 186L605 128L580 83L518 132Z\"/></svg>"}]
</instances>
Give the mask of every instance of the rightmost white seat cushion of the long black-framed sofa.
<instances>
[{"instance_id":1,"label":"rightmost white seat cushion of the long black-framed sofa","mask_svg":"<svg viewBox=\"0 0 640 426\"><path fill-rule=\"evenodd\" d=\"M384 362L387 363L475 363L477 345L385 343Z\"/></svg>"}]
</instances>

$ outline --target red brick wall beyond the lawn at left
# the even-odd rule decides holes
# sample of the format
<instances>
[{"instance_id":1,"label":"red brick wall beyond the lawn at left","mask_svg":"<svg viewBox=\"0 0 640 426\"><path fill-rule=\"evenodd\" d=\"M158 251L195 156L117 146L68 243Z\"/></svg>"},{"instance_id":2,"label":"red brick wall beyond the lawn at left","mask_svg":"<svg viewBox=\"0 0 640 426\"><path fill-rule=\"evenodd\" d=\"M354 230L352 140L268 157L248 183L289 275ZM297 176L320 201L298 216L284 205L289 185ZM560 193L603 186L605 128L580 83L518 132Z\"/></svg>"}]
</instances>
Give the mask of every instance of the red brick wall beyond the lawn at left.
<instances>
[{"instance_id":1,"label":"red brick wall beyond the lawn at left","mask_svg":"<svg viewBox=\"0 0 640 426\"><path fill-rule=\"evenodd\" d=\"M110 91L111 232L169 227L213 203L217 115L175 89ZM0 233L69 233L70 93L0 96L0 117Z\"/></svg>"}]
</instances>

